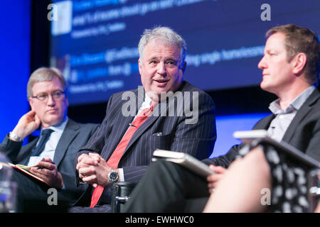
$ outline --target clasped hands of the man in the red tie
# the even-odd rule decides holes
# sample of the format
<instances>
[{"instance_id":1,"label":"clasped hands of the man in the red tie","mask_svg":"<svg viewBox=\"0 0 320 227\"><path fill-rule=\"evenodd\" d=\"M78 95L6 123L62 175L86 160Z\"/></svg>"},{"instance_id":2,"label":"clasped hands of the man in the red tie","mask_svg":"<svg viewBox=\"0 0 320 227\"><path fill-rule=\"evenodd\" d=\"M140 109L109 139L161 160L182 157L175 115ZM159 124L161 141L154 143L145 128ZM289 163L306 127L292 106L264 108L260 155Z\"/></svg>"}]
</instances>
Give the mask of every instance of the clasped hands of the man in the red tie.
<instances>
[{"instance_id":1,"label":"clasped hands of the man in the red tie","mask_svg":"<svg viewBox=\"0 0 320 227\"><path fill-rule=\"evenodd\" d=\"M107 175L112 168L97 153L80 155L76 169L82 181L92 184L92 187L97 187L98 184L102 186L109 184Z\"/></svg>"}]
</instances>

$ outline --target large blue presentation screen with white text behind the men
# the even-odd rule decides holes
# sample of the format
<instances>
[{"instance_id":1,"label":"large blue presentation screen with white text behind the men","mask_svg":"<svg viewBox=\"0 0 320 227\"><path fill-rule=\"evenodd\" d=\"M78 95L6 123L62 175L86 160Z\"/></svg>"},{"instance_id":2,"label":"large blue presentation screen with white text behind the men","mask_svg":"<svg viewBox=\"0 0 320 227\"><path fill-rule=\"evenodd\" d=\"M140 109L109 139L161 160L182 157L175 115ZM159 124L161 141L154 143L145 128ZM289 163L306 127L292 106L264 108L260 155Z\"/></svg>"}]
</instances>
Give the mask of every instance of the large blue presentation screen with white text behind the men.
<instances>
[{"instance_id":1,"label":"large blue presentation screen with white text behind the men","mask_svg":"<svg viewBox=\"0 0 320 227\"><path fill-rule=\"evenodd\" d=\"M294 23L320 33L319 0L53 4L50 65L68 79L71 105L105 102L114 92L141 85L137 45L146 28L169 26L182 35L188 45L184 78L206 91L257 86L257 63L272 26Z\"/></svg>"}]
</instances>

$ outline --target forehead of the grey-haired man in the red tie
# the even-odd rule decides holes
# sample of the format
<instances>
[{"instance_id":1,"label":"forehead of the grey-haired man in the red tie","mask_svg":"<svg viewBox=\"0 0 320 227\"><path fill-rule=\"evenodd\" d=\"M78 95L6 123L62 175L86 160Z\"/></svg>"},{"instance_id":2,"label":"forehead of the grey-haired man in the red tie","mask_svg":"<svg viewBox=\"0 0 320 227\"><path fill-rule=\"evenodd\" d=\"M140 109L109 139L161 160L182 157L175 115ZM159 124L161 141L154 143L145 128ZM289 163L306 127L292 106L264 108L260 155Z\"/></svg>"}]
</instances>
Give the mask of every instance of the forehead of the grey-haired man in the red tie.
<instances>
[{"instance_id":1,"label":"forehead of the grey-haired man in the red tie","mask_svg":"<svg viewBox=\"0 0 320 227\"><path fill-rule=\"evenodd\" d=\"M150 40L144 48L144 57L146 59L153 57L173 57L180 58L181 51L177 45L165 43L162 40Z\"/></svg>"}]
</instances>

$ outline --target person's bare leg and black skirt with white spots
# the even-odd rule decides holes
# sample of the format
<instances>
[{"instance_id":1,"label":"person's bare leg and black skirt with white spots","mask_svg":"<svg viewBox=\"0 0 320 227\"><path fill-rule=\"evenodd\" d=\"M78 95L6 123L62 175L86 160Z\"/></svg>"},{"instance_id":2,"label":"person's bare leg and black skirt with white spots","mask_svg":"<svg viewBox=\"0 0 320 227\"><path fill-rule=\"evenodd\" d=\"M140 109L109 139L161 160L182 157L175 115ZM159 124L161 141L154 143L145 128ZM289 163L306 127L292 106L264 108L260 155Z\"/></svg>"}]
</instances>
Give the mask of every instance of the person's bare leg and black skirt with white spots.
<instances>
[{"instance_id":1,"label":"person's bare leg and black skirt with white spots","mask_svg":"<svg viewBox=\"0 0 320 227\"><path fill-rule=\"evenodd\" d=\"M308 175L317 167L265 142L235 160L204 212L309 212ZM252 171L254 170L254 171Z\"/></svg>"}]
</instances>

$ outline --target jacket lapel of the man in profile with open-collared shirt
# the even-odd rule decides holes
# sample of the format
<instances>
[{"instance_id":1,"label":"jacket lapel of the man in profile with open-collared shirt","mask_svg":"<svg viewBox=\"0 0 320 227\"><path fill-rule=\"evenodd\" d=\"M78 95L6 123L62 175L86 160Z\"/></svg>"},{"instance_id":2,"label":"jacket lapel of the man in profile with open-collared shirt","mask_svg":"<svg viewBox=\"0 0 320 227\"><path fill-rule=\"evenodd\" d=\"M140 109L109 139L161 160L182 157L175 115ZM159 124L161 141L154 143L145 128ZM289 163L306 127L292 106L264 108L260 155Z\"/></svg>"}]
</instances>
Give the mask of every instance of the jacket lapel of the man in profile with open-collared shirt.
<instances>
[{"instance_id":1,"label":"jacket lapel of the man in profile with open-collared shirt","mask_svg":"<svg viewBox=\"0 0 320 227\"><path fill-rule=\"evenodd\" d=\"M284 133L282 140L289 142L292 139L297 126L299 125L299 123L301 123L301 121L304 120L306 115L311 111L312 105L316 102L316 100L319 99L319 97L320 95L317 90L311 93L311 95L308 97L308 99L306 99L302 107L298 110L296 116L294 116L292 122L287 128L286 133Z\"/></svg>"}]
</instances>

